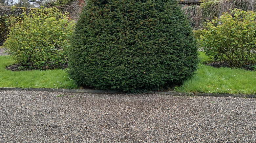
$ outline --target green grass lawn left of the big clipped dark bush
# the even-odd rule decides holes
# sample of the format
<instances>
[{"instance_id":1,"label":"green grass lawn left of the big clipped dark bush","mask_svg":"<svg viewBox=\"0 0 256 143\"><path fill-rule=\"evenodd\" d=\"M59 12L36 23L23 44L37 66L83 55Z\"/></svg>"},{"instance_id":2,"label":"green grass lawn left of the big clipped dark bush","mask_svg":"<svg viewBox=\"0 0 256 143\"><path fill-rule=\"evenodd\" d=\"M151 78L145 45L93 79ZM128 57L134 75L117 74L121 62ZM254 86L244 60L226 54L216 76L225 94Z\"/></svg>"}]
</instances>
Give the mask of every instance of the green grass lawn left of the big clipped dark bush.
<instances>
[{"instance_id":1,"label":"green grass lawn left of the big clipped dark bush","mask_svg":"<svg viewBox=\"0 0 256 143\"><path fill-rule=\"evenodd\" d=\"M0 87L22 88L76 88L65 70L9 71L11 56L0 56Z\"/></svg>"}]
</instances>

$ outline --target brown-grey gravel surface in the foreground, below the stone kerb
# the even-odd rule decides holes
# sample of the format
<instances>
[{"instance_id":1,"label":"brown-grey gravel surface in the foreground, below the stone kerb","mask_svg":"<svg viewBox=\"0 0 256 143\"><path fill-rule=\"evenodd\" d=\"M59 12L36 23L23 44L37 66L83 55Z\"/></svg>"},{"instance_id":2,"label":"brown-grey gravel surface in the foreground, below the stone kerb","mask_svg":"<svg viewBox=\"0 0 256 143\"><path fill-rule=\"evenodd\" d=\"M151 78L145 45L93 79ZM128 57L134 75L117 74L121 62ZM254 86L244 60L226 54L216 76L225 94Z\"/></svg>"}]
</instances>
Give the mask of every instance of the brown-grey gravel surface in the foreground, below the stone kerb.
<instances>
[{"instance_id":1,"label":"brown-grey gravel surface in the foreground, below the stone kerb","mask_svg":"<svg viewBox=\"0 0 256 143\"><path fill-rule=\"evenodd\" d=\"M0 142L256 142L256 99L0 90Z\"/></svg>"}]
</instances>

